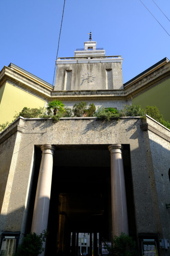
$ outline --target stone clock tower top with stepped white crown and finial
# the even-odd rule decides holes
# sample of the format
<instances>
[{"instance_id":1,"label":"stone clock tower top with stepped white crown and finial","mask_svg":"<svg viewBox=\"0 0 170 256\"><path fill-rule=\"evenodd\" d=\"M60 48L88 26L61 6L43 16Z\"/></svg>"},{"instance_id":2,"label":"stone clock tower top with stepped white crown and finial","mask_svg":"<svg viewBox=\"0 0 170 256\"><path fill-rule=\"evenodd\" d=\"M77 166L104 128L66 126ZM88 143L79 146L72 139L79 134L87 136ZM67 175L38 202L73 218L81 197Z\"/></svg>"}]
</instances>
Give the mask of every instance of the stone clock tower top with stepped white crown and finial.
<instances>
[{"instance_id":1,"label":"stone clock tower top with stepped white crown and finial","mask_svg":"<svg viewBox=\"0 0 170 256\"><path fill-rule=\"evenodd\" d=\"M122 58L105 56L97 42L84 42L83 49L76 49L74 57L56 60L57 71L54 91L122 90Z\"/></svg>"}]
</instances>

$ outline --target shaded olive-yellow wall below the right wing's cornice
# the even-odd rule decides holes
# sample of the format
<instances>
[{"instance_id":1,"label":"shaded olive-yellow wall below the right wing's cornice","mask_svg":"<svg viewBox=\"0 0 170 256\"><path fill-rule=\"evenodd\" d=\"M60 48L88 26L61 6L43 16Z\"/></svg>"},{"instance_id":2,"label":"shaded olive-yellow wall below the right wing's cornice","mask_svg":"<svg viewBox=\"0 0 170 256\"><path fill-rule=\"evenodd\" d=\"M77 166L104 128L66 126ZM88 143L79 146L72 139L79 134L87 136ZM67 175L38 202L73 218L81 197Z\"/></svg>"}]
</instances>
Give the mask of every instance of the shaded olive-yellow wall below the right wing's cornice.
<instances>
[{"instance_id":1,"label":"shaded olive-yellow wall below the right wing's cornice","mask_svg":"<svg viewBox=\"0 0 170 256\"><path fill-rule=\"evenodd\" d=\"M144 92L132 100L132 104L141 105L145 108L147 105L158 107L160 113L166 121L170 121L170 79Z\"/></svg>"}]
</instances>

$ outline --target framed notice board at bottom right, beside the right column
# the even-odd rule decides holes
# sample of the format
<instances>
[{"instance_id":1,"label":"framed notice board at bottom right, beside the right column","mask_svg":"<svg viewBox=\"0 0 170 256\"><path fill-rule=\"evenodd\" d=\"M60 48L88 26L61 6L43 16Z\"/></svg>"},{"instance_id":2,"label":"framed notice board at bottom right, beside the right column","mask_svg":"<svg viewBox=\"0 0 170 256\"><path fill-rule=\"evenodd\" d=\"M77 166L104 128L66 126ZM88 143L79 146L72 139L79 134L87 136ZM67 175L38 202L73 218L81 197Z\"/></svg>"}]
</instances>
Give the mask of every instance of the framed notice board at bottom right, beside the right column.
<instances>
[{"instance_id":1,"label":"framed notice board at bottom right, beside the right column","mask_svg":"<svg viewBox=\"0 0 170 256\"><path fill-rule=\"evenodd\" d=\"M142 256L158 256L157 245L155 241L143 241Z\"/></svg>"}]
</instances>

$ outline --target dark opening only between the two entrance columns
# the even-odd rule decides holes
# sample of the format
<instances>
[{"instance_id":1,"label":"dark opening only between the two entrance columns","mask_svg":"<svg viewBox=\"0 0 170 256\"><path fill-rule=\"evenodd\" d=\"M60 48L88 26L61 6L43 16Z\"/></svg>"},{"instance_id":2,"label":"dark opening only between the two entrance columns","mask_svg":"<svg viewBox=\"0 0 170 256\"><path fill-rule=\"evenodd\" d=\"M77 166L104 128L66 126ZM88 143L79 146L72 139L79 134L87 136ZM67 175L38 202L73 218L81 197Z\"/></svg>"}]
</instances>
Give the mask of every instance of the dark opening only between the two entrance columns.
<instances>
[{"instance_id":1,"label":"dark opening only between the two entrance columns","mask_svg":"<svg viewBox=\"0 0 170 256\"><path fill-rule=\"evenodd\" d=\"M101 237L111 239L110 194L110 152L107 145L58 148L54 155L49 212L49 233L50 236L53 234L50 240L55 236L58 254L78 255L82 250L84 253L84 242L82 250L77 248L76 252L78 233L100 233Z\"/></svg>"}]
</instances>

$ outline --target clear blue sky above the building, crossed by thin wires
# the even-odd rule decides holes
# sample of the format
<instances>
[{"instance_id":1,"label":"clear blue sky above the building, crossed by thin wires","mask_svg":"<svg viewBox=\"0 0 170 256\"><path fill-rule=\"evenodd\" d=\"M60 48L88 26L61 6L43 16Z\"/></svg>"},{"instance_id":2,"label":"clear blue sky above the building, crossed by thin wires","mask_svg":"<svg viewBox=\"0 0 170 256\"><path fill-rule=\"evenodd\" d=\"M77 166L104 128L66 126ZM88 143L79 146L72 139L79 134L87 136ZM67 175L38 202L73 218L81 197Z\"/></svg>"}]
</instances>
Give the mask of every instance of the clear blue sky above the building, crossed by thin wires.
<instances>
[{"instance_id":1,"label":"clear blue sky above the building, crossed by thin wires","mask_svg":"<svg viewBox=\"0 0 170 256\"><path fill-rule=\"evenodd\" d=\"M170 34L152 0L142 0ZM170 1L154 0L170 19ZM52 84L64 0L0 1L0 70L10 62ZM92 40L106 55L122 55L123 82L167 57L170 36L139 0L66 0L58 57L73 57Z\"/></svg>"}]
</instances>

